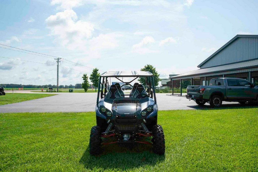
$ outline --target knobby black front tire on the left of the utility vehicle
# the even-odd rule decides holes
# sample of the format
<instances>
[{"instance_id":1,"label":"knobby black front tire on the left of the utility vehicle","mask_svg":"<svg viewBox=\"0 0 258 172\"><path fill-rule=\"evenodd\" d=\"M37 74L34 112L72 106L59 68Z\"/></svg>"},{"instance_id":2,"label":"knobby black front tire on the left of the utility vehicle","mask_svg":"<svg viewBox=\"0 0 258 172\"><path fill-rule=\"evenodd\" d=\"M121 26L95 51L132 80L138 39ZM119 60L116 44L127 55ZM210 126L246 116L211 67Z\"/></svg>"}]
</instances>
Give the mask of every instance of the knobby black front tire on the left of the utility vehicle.
<instances>
[{"instance_id":1,"label":"knobby black front tire on the left of the utility vehicle","mask_svg":"<svg viewBox=\"0 0 258 172\"><path fill-rule=\"evenodd\" d=\"M89 151L91 155L99 155L101 153L101 132L99 126L93 126L91 128L91 135L89 141Z\"/></svg>"}]
</instances>

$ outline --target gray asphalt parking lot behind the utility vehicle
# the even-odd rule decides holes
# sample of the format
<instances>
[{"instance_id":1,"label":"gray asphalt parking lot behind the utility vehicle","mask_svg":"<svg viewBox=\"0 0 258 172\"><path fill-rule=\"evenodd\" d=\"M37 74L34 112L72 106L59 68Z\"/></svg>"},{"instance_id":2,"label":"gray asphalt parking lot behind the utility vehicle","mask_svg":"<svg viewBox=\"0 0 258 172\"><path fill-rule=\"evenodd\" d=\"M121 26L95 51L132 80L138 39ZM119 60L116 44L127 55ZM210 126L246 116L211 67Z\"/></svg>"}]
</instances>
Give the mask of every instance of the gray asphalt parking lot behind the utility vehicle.
<instances>
[{"instance_id":1,"label":"gray asphalt parking lot behind the utility vehicle","mask_svg":"<svg viewBox=\"0 0 258 172\"><path fill-rule=\"evenodd\" d=\"M9 92L9 91L7 91ZM15 91L20 93L34 93L28 90ZM130 92L130 91L129 91ZM55 96L29 100L25 102L0 106L0 112L89 112L95 111L97 93L56 93ZM167 93L157 93L159 110L191 110L211 108L208 103L204 106L189 101L185 96L169 96ZM223 102L222 107L243 107L237 102Z\"/></svg>"}]
</instances>

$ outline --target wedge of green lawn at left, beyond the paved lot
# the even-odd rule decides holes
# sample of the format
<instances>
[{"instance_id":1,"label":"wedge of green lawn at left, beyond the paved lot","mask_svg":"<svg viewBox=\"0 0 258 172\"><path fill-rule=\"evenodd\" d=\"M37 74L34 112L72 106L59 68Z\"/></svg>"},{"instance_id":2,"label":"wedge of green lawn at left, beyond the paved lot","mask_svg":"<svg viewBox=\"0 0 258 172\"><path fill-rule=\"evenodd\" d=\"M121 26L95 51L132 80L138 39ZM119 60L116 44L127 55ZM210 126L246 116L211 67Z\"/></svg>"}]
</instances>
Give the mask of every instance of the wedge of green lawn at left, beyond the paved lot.
<instances>
[{"instance_id":1,"label":"wedge of green lawn at left, beyond the paved lot","mask_svg":"<svg viewBox=\"0 0 258 172\"><path fill-rule=\"evenodd\" d=\"M6 93L5 96L0 96L0 105L23 102L27 100L33 100L37 98L49 97L54 95L56 94Z\"/></svg>"}]
</instances>

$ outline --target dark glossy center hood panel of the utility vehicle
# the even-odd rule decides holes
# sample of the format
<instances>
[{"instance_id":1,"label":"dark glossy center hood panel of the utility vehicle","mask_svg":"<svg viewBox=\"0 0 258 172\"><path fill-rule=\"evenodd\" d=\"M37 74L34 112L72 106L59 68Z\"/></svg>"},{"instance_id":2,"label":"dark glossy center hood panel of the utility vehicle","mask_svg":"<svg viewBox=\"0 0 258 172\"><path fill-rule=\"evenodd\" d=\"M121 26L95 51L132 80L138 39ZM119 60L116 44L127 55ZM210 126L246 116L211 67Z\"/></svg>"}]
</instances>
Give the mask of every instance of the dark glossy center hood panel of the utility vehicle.
<instances>
[{"instance_id":1,"label":"dark glossy center hood panel of the utility vehicle","mask_svg":"<svg viewBox=\"0 0 258 172\"><path fill-rule=\"evenodd\" d=\"M116 116L134 116L141 112L141 104L138 99L114 100L112 112Z\"/></svg>"}]
</instances>

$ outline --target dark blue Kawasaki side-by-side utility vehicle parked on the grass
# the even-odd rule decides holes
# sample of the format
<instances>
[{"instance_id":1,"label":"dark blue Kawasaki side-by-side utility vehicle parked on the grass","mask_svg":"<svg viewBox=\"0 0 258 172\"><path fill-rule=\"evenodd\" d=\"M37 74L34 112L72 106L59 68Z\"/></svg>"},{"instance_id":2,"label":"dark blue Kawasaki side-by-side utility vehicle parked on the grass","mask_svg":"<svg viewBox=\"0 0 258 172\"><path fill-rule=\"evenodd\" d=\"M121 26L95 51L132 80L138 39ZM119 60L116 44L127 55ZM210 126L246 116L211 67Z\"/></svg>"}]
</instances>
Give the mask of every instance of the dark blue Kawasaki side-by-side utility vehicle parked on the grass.
<instances>
[{"instance_id":1,"label":"dark blue Kawasaki side-by-side utility vehicle parked on the grass","mask_svg":"<svg viewBox=\"0 0 258 172\"><path fill-rule=\"evenodd\" d=\"M110 77L131 86L130 93L125 94L121 89L124 85L119 83L109 86ZM145 87L137 82L130 84L139 77L145 78ZM154 78L150 72L101 74L95 111L97 125L91 128L90 154L98 155L102 146L113 143L149 144L153 146L154 153L165 153L165 137L163 128L157 125L158 106Z\"/></svg>"}]
</instances>

